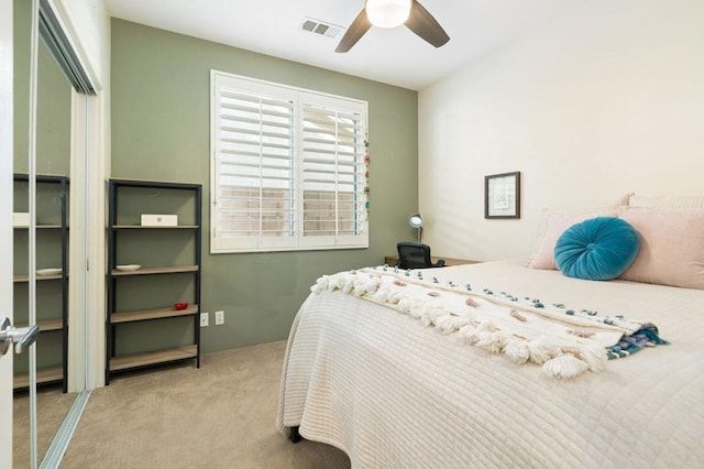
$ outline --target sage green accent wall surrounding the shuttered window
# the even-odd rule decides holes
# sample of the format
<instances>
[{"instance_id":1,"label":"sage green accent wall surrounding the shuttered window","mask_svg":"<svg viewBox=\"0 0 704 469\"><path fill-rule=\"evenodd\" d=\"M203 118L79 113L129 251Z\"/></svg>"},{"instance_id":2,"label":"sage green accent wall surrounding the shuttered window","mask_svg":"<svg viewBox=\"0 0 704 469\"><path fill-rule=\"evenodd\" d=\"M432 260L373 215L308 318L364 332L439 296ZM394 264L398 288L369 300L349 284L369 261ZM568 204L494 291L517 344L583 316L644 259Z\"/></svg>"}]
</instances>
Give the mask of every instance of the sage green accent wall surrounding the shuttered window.
<instances>
[{"instance_id":1,"label":"sage green accent wall surrounding the shuttered window","mask_svg":"<svg viewBox=\"0 0 704 469\"><path fill-rule=\"evenodd\" d=\"M204 185L204 352L285 339L318 276L381 264L415 239L416 91L122 20L111 29L112 177ZM369 102L369 249L210 254L210 69Z\"/></svg>"}]
</instances>

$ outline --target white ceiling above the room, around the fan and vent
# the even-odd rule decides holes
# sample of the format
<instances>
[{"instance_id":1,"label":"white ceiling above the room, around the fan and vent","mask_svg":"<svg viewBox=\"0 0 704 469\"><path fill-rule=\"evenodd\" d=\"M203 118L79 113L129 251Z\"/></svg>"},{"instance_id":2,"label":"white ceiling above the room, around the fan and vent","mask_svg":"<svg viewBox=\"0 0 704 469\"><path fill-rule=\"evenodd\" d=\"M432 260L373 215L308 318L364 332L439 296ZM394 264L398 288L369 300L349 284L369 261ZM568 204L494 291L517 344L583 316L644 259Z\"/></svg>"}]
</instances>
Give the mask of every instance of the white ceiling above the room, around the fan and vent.
<instances>
[{"instance_id":1,"label":"white ceiling above the room, around the fan and vent","mask_svg":"<svg viewBox=\"0 0 704 469\"><path fill-rule=\"evenodd\" d=\"M107 0L116 18L409 89L421 89L585 0L420 0L450 35L435 48L405 26L372 28L346 54L300 29L350 25L364 0Z\"/></svg>"}]
</instances>

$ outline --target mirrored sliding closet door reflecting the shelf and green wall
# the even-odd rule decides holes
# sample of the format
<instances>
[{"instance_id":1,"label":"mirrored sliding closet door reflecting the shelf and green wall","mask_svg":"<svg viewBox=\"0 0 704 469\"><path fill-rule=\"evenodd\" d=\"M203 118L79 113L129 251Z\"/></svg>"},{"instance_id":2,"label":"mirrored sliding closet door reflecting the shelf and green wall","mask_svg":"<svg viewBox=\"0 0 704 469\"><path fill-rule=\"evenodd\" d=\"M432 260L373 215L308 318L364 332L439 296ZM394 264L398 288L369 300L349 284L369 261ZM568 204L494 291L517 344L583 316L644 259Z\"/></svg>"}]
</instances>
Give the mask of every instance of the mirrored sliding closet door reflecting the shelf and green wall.
<instances>
[{"instance_id":1,"label":"mirrored sliding closet door reflecting the shelf and green wall","mask_svg":"<svg viewBox=\"0 0 704 469\"><path fill-rule=\"evenodd\" d=\"M85 312L69 308L69 282L77 281L69 276L69 237L80 233L68 220L72 210L80 212L70 175L72 145L81 135L72 122L76 92L90 87L77 84L75 64L66 63L73 52L48 2L15 0L13 28L13 315L19 326L40 327L29 352L14 355L13 467L34 468L46 466L77 395L68 386L76 359L68 324Z\"/></svg>"}]
</instances>

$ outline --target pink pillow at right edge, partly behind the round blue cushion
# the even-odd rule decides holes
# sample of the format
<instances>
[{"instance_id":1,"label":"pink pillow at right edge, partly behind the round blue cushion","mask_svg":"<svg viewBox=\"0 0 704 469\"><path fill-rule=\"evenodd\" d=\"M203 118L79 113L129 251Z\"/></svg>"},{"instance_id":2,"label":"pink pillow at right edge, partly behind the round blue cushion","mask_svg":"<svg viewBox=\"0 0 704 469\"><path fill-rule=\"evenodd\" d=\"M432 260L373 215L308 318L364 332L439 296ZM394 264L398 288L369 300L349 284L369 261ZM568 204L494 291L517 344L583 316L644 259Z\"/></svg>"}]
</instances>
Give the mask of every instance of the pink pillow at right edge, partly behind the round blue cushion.
<instances>
[{"instance_id":1,"label":"pink pillow at right edge, partly behind the round blue cushion","mask_svg":"<svg viewBox=\"0 0 704 469\"><path fill-rule=\"evenodd\" d=\"M704 290L704 210L624 208L640 251L619 279Z\"/></svg>"}]
</instances>

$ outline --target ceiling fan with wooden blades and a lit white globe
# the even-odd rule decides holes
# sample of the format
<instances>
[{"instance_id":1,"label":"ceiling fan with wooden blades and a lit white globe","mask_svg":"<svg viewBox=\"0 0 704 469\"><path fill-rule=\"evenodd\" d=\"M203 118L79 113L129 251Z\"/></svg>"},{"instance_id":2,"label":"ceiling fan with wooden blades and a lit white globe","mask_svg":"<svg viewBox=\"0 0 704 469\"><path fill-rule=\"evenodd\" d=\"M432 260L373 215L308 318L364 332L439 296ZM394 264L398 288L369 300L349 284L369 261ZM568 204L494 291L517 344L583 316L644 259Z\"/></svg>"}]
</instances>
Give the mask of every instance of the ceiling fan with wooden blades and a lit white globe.
<instances>
[{"instance_id":1,"label":"ceiling fan with wooden blades and a lit white globe","mask_svg":"<svg viewBox=\"0 0 704 469\"><path fill-rule=\"evenodd\" d=\"M372 25L396 28L400 24L436 47L450 41L440 23L417 0L366 0L334 52L350 51Z\"/></svg>"}]
</instances>

